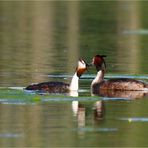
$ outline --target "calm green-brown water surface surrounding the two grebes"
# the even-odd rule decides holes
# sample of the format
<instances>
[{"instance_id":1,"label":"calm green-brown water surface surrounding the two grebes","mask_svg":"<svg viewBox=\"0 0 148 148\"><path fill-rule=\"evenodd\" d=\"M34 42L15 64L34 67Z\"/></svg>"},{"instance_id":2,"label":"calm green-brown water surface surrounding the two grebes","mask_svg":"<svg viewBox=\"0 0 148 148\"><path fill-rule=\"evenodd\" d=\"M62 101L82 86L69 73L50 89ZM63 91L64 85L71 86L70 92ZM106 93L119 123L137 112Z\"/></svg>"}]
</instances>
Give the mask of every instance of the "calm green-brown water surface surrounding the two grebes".
<instances>
[{"instance_id":1,"label":"calm green-brown water surface surrounding the two grebes","mask_svg":"<svg viewBox=\"0 0 148 148\"><path fill-rule=\"evenodd\" d=\"M96 54L107 55L106 79L148 82L147 7L138 1L1 1L0 145L148 146L148 96L91 96L93 68L80 79L79 97L23 90L35 82L69 83L77 60L90 62Z\"/></svg>"}]
</instances>

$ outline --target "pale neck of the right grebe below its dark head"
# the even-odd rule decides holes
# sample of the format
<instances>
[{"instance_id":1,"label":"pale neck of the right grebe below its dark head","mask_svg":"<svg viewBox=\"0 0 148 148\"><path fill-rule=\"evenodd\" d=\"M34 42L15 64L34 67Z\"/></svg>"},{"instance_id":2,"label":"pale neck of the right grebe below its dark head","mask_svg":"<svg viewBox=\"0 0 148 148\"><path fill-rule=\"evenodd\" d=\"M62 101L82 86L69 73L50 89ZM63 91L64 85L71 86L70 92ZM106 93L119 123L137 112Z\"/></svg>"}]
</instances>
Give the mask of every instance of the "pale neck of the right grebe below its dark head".
<instances>
[{"instance_id":1,"label":"pale neck of the right grebe below its dark head","mask_svg":"<svg viewBox=\"0 0 148 148\"><path fill-rule=\"evenodd\" d=\"M103 79L104 79L104 70L99 70L98 73L97 73L97 76L92 81L91 86L93 86L94 84L98 84L98 83L102 82Z\"/></svg>"}]
</instances>

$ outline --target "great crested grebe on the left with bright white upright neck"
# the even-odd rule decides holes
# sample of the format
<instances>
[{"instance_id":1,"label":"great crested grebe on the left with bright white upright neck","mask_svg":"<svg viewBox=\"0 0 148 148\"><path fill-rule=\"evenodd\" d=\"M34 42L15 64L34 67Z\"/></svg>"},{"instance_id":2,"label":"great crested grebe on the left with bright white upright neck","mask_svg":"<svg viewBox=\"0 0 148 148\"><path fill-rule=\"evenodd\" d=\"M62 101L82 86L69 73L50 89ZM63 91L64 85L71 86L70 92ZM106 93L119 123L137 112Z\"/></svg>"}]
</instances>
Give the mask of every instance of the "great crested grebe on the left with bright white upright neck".
<instances>
[{"instance_id":1,"label":"great crested grebe on the left with bright white upright neck","mask_svg":"<svg viewBox=\"0 0 148 148\"><path fill-rule=\"evenodd\" d=\"M37 84L31 84L25 89L49 93L66 93L70 91L78 91L79 78L86 70L87 64L82 59L80 59L78 61L78 65L76 67L76 71L72 77L70 85L64 82L42 82Z\"/></svg>"}]
</instances>

